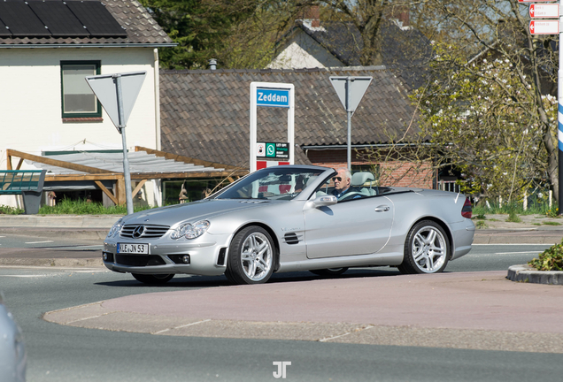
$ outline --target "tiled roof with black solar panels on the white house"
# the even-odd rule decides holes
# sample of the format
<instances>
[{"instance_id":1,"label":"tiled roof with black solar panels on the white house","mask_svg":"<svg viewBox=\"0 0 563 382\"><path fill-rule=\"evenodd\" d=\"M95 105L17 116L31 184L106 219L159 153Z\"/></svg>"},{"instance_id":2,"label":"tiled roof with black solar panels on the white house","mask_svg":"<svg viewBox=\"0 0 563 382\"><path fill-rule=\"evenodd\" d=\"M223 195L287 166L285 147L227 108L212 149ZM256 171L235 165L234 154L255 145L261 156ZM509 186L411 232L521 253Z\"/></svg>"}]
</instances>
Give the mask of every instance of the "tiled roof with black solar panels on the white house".
<instances>
[{"instance_id":1,"label":"tiled roof with black solar panels on the white house","mask_svg":"<svg viewBox=\"0 0 563 382\"><path fill-rule=\"evenodd\" d=\"M0 0L0 47L173 46L135 0Z\"/></svg>"}]
</instances>

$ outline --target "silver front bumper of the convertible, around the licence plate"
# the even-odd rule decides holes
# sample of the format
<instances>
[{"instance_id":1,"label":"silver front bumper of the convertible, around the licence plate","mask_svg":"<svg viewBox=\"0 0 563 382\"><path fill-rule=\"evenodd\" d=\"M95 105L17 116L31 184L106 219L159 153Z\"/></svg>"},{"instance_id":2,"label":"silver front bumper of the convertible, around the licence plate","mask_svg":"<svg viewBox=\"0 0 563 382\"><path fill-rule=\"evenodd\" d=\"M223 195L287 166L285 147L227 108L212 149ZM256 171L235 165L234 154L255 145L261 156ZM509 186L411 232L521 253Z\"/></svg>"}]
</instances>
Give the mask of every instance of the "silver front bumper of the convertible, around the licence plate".
<instances>
[{"instance_id":1,"label":"silver front bumper of the convertible, around the licence plate","mask_svg":"<svg viewBox=\"0 0 563 382\"><path fill-rule=\"evenodd\" d=\"M227 253L230 235L211 235L205 233L196 240L167 239L150 241L146 255L118 254L118 244L139 244L143 240L114 238L104 241L104 265L111 271L140 274L185 273L203 276L218 276L227 269ZM181 261L189 256L189 264Z\"/></svg>"}]
</instances>

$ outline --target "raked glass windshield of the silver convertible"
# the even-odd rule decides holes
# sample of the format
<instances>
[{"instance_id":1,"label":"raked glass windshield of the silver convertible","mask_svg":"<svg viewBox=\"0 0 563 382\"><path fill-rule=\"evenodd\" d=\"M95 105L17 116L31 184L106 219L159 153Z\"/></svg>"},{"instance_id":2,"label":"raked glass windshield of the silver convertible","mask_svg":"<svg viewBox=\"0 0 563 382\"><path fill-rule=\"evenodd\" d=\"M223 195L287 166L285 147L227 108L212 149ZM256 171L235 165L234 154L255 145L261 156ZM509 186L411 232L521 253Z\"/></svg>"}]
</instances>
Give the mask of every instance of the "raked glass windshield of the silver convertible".
<instances>
[{"instance_id":1,"label":"raked glass windshield of the silver convertible","mask_svg":"<svg viewBox=\"0 0 563 382\"><path fill-rule=\"evenodd\" d=\"M315 180L323 170L275 168L254 172L214 199L291 200Z\"/></svg>"}]
</instances>

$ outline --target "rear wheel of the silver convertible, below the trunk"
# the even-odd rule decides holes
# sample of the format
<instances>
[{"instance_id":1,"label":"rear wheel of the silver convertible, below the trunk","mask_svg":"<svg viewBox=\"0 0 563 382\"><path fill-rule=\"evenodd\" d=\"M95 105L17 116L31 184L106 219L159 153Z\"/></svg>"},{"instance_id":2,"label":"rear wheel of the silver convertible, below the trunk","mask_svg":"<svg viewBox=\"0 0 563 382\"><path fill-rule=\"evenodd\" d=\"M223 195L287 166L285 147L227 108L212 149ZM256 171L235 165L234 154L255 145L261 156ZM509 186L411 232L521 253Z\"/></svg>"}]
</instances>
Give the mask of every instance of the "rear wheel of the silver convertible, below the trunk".
<instances>
[{"instance_id":1,"label":"rear wheel of the silver convertible, below the trunk","mask_svg":"<svg viewBox=\"0 0 563 382\"><path fill-rule=\"evenodd\" d=\"M432 220L413 225L405 240L401 273L437 273L444 270L450 259L450 241L442 226Z\"/></svg>"}]
</instances>

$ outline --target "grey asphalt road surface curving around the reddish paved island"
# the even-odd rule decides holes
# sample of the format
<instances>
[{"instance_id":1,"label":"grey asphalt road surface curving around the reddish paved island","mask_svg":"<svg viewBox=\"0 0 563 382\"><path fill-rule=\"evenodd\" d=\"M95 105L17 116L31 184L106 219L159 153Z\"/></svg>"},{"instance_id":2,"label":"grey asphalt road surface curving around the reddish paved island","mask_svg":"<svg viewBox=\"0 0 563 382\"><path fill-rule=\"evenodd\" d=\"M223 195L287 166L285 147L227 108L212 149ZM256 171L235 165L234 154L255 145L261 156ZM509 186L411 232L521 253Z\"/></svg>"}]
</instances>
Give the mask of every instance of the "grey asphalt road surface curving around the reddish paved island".
<instances>
[{"instance_id":1,"label":"grey asphalt road surface curving around the reddish paved island","mask_svg":"<svg viewBox=\"0 0 563 382\"><path fill-rule=\"evenodd\" d=\"M4 239L0 238L0 244ZM73 241L60 244L72 246ZM469 255L449 264L447 271L504 270L507 264L522 264L544 248L475 246ZM395 273L386 267L352 270L343 276ZM315 277L308 272L287 273L275 275L272 282ZM179 338L82 329L42 320L46 311L129 294L226 284L223 277L178 277L166 287L145 287L126 274L103 268L0 268L0 289L25 334L27 380L32 382L267 381L276 380L274 363L279 362L291 363L286 366L289 381L523 381L559 380L563 375L560 354Z\"/></svg>"}]
</instances>

